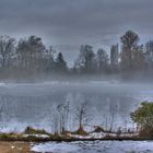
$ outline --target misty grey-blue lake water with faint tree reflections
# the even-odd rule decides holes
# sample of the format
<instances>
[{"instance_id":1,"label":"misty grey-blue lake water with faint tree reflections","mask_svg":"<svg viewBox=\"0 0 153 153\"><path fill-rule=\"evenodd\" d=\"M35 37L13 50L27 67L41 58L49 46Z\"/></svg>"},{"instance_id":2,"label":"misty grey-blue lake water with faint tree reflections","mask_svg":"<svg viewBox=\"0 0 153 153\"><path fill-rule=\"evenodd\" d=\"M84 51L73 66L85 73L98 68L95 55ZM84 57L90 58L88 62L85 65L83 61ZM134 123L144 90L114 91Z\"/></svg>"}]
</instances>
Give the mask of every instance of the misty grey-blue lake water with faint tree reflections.
<instances>
[{"instance_id":1,"label":"misty grey-blue lake water with faint tree reflections","mask_svg":"<svg viewBox=\"0 0 153 153\"><path fill-rule=\"evenodd\" d=\"M115 81L84 83L1 83L0 126L2 130L23 130L27 126L51 130L58 104L70 103L70 129L75 127L76 106L86 101L92 125L131 127L130 113L143 101L153 99L153 85Z\"/></svg>"}]
</instances>

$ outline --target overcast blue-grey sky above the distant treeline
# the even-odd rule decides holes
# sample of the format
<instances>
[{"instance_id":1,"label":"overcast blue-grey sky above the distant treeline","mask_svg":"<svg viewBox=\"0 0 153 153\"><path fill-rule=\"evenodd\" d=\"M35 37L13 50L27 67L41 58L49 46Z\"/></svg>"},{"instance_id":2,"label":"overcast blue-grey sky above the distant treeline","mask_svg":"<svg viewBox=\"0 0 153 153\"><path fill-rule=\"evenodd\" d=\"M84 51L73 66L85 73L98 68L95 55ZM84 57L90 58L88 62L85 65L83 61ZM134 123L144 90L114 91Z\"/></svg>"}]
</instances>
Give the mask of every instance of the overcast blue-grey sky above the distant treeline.
<instances>
[{"instance_id":1,"label":"overcast blue-grey sky above the distant treeline","mask_svg":"<svg viewBox=\"0 0 153 153\"><path fill-rule=\"evenodd\" d=\"M80 45L119 42L127 31L153 38L153 0L0 0L0 35L37 35L71 62Z\"/></svg>"}]
</instances>

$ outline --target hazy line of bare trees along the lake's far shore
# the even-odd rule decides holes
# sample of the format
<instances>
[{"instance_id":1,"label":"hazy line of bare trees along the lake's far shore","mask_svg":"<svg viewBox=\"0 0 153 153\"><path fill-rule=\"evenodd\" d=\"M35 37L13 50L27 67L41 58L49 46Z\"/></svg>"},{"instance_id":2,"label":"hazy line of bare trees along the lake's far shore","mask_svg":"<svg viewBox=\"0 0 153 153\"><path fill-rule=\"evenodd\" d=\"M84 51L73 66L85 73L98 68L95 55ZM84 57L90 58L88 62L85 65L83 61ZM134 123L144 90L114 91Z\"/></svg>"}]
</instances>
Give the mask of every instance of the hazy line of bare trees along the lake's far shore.
<instances>
[{"instance_id":1,"label":"hazy line of bare trees along the lake's far shore","mask_svg":"<svg viewBox=\"0 0 153 153\"><path fill-rule=\"evenodd\" d=\"M121 37L121 46L110 46L110 50L91 45L82 45L80 55L69 68L62 52L46 47L37 36L21 38L0 37L0 79L26 79L55 75L131 75L153 76L153 40L139 44L139 35L127 31ZM73 50L72 50L73 51Z\"/></svg>"}]
</instances>

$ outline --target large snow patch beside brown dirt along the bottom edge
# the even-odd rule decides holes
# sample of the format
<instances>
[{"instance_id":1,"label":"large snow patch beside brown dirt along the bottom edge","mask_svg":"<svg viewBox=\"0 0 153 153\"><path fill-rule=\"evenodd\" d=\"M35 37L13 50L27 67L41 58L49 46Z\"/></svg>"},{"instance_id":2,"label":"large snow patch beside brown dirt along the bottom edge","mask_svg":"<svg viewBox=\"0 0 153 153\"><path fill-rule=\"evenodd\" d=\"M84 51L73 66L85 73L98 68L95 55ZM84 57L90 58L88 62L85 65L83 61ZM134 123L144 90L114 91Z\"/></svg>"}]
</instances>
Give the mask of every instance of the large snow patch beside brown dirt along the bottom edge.
<instances>
[{"instance_id":1,"label":"large snow patch beside brown dirt along the bottom edge","mask_svg":"<svg viewBox=\"0 0 153 153\"><path fill-rule=\"evenodd\" d=\"M47 142L34 145L32 151L44 153L153 153L153 141Z\"/></svg>"}]
</instances>

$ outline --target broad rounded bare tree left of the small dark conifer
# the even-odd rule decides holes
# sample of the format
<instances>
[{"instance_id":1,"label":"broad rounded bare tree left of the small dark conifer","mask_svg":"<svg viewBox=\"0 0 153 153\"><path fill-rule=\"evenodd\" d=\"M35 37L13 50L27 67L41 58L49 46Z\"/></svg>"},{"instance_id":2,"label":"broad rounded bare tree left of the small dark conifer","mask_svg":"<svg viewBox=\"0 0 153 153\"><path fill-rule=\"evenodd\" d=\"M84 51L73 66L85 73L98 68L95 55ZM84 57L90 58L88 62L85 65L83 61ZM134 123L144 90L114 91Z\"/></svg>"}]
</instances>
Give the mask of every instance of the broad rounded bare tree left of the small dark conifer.
<instances>
[{"instance_id":1,"label":"broad rounded bare tree left of the small dark conifer","mask_svg":"<svg viewBox=\"0 0 153 153\"><path fill-rule=\"evenodd\" d=\"M40 69L45 45L40 37L30 36L21 39L17 45L17 56L21 69L34 71Z\"/></svg>"}]
</instances>

